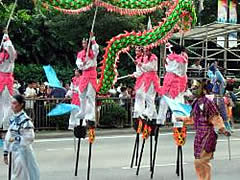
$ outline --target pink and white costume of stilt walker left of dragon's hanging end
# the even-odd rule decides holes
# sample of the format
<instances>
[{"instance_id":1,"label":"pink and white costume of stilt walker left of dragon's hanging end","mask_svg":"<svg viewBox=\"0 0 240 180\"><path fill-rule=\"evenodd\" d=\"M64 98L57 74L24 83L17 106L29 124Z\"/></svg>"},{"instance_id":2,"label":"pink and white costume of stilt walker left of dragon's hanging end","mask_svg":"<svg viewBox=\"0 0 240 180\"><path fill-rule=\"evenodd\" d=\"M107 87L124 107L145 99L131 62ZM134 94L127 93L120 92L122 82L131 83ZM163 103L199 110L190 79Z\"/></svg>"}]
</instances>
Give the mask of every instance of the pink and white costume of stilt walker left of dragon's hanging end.
<instances>
[{"instance_id":1,"label":"pink and white costume of stilt walker left of dragon's hanging end","mask_svg":"<svg viewBox=\"0 0 240 180\"><path fill-rule=\"evenodd\" d=\"M95 121L95 97L97 88L97 56L99 46L96 41L92 41L92 47L89 49L88 58L86 50L82 50L77 55L76 64L82 75L79 86L80 111L76 115L78 119Z\"/></svg>"}]
</instances>

